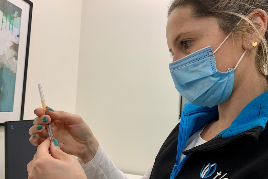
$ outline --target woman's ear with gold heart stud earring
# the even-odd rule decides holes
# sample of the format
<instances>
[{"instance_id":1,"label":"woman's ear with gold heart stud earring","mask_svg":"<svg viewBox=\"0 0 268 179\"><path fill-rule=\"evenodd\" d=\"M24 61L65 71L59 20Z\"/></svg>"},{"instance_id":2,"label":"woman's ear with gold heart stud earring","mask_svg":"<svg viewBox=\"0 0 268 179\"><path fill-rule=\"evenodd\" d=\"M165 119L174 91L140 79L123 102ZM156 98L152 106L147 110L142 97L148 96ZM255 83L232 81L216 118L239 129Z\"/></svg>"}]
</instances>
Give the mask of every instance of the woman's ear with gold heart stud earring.
<instances>
[{"instance_id":1,"label":"woman's ear with gold heart stud earring","mask_svg":"<svg viewBox=\"0 0 268 179\"><path fill-rule=\"evenodd\" d=\"M247 15L250 22L248 23L247 32L244 35L243 48L245 50L255 49L260 44L267 29L268 16L262 9L254 9ZM252 25L254 27L252 27Z\"/></svg>"}]
</instances>

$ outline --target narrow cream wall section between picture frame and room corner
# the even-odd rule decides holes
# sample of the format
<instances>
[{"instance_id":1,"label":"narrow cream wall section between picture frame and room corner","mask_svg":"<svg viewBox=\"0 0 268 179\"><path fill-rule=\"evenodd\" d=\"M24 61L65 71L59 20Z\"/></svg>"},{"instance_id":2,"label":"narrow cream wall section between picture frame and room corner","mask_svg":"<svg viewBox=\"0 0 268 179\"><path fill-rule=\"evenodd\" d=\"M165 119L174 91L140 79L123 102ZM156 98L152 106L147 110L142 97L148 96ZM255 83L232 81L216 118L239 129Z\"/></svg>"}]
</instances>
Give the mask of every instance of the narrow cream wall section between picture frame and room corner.
<instances>
[{"instance_id":1,"label":"narrow cream wall section between picture frame and room corner","mask_svg":"<svg viewBox=\"0 0 268 179\"><path fill-rule=\"evenodd\" d=\"M48 106L75 113L82 0L31 1L24 120L33 119L33 110L41 106L38 83ZM0 127L0 178L4 178L4 127Z\"/></svg>"}]
</instances>

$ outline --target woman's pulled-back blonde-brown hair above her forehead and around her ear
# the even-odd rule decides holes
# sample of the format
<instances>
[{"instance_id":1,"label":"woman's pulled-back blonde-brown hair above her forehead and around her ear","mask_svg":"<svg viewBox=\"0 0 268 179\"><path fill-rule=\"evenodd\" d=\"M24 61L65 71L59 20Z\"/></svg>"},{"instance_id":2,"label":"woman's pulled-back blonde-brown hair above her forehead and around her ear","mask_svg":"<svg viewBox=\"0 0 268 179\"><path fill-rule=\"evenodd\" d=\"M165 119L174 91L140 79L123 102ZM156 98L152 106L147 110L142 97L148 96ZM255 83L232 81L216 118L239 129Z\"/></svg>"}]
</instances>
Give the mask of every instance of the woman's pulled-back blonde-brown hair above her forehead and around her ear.
<instances>
[{"instance_id":1,"label":"woman's pulled-back blonde-brown hair above her forehead and around her ear","mask_svg":"<svg viewBox=\"0 0 268 179\"><path fill-rule=\"evenodd\" d=\"M251 32L261 39L258 45L255 61L256 68L262 75L267 75L268 64L268 31L261 35L260 27L252 23L247 14L254 9L262 9L268 12L267 0L174 0L169 7L168 17L178 7L189 6L192 8L192 16L196 18L215 17L219 27L224 33L229 34L238 21L243 21L234 29L233 34ZM251 42L249 42L251 43Z\"/></svg>"}]
</instances>

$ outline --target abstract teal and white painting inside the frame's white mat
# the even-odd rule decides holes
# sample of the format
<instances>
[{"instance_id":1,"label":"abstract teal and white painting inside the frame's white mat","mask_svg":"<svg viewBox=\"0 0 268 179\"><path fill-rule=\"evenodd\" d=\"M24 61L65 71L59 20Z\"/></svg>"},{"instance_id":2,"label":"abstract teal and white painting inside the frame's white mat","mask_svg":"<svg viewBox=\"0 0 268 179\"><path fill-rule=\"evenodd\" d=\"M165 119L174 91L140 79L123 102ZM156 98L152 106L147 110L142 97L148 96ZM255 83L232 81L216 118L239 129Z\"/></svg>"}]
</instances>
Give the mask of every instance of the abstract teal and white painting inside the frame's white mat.
<instances>
[{"instance_id":1,"label":"abstract teal and white painting inside the frame's white mat","mask_svg":"<svg viewBox=\"0 0 268 179\"><path fill-rule=\"evenodd\" d=\"M0 112L13 112L21 8L1 0L0 19Z\"/></svg>"}]
</instances>

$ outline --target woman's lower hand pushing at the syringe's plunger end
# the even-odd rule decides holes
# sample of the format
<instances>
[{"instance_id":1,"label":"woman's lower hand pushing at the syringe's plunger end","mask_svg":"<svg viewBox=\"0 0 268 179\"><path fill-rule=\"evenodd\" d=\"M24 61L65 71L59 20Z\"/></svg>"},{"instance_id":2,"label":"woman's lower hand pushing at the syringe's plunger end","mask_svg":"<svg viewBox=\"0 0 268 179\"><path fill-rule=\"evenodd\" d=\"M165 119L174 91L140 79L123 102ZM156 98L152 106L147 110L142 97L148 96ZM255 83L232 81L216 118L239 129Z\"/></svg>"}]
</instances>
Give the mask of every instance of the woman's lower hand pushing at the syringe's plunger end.
<instances>
[{"instance_id":1,"label":"woman's lower hand pushing at the syringe's plunger end","mask_svg":"<svg viewBox=\"0 0 268 179\"><path fill-rule=\"evenodd\" d=\"M27 171L28 179L86 179L76 157L61 151L57 139L52 143L46 139L39 145L33 160L27 165Z\"/></svg>"}]
</instances>

